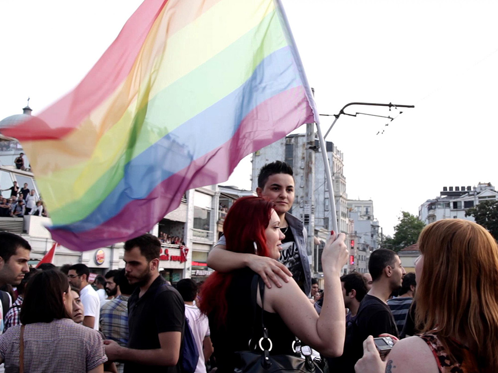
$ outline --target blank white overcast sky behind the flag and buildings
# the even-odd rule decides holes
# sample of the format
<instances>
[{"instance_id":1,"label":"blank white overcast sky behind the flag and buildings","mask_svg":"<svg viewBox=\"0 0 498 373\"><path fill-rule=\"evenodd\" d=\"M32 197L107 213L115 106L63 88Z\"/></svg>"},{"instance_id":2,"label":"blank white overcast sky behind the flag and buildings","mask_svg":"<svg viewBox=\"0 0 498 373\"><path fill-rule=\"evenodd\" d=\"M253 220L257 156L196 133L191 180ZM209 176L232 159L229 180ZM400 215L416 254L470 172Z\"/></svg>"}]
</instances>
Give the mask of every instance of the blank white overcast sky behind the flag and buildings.
<instances>
[{"instance_id":1,"label":"blank white overcast sky behind the flag and buildings","mask_svg":"<svg viewBox=\"0 0 498 373\"><path fill-rule=\"evenodd\" d=\"M28 96L36 114L76 86L140 2L0 0L0 118ZM415 105L388 127L342 116L327 137L344 152L349 198L373 199L384 234L443 186L498 184L497 1L282 2L320 113ZM322 117L324 133L331 122ZM249 189L249 175L246 158L224 184Z\"/></svg>"}]
</instances>

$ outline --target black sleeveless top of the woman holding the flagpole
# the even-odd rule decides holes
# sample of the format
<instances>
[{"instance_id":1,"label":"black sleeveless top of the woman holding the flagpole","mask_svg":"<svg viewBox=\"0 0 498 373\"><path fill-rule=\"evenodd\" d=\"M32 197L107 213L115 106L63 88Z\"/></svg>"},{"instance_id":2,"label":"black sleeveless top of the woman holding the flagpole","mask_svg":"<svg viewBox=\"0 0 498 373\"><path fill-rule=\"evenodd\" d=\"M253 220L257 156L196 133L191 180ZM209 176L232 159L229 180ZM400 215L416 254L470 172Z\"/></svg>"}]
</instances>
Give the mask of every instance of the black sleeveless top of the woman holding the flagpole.
<instances>
[{"instance_id":1,"label":"black sleeveless top of the woman holding the flagpole","mask_svg":"<svg viewBox=\"0 0 498 373\"><path fill-rule=\"evenodd\" d=\"M249 351L249 339L255 335L259 340L262 336L261 307L256 305L254 318L254 306L251 301L250 287L255 273L245 268L234 271L233 274L233 280L227 290L228 314L225 325L217 325L214 316L208 316L218 373L233 373L234 353ZM268 338L273 344L270 355L293 355L292 342L295 338L292 332L278 314L263 312ZM256 352L261 351L257 348Z\"/></svg>"}]
</instances>

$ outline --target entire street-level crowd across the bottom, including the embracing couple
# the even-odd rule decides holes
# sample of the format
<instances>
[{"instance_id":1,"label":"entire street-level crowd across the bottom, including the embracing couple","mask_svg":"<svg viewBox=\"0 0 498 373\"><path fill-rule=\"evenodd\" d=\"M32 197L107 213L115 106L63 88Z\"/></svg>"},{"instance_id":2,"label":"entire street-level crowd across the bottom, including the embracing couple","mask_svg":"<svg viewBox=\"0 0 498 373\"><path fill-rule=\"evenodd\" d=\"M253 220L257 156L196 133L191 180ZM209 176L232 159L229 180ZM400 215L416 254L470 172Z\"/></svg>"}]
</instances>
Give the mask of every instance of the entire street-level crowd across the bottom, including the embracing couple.
<instances>
[{"instance_id":1,"label":"entire street-level crowd across the bottom, including the embracing couple","mask_svg":"<svg viewBox=\"0 0 498 373\"><path fill-rule=\"evenodd\" d=\"M124 269L92 286L84 264L29 269L29 243L0 232L0 286L17 296L0 292L5 371L185 372L191 336L198 373L248 372L245 352L258 359L252 372L272 359L317 373L498 372L498 245L486 229L437 221L420 234L415 274L378 249L365 275L342 275L346 237L331 232L320 290L288 212L293 189L285 163L261 169L258 196L229 209L208 257L216 272L200 288L160 276L150 234L126 241Z\"/></svg>"}]
</instances>

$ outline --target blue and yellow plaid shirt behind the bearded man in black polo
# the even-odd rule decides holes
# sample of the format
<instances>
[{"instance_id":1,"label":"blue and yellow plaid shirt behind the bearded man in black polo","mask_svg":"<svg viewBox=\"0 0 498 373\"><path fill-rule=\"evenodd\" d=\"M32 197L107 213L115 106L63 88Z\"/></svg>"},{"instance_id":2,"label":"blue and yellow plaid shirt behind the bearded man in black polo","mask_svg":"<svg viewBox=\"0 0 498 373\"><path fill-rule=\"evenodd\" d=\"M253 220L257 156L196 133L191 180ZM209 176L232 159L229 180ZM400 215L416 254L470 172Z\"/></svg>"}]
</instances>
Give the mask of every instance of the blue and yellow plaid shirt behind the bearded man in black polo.
<instances>
[{"instance_id":1,"label":"blue and yellow plaid shirt behind the bearded man in black polo","mask_svg":"<svg viewBox=\"0 0 498 373\"><path fill-rule=\"evenodd\" d=\"M119 295L102 305L100 330L107 339L126 347L128 344L128 297Z\"/></svg>"}]
</instances>

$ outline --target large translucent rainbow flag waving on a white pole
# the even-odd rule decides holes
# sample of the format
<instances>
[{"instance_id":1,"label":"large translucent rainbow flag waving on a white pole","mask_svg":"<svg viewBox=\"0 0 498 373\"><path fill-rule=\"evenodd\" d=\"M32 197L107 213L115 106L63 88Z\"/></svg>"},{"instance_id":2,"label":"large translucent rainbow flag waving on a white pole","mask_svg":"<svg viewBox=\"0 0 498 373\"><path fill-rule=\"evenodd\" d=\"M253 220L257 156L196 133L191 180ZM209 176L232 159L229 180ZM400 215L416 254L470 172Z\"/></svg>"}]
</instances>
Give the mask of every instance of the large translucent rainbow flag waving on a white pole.
<instances>
[{"instance_id":1,"label":"large translucent rainbow flag waving on a white pole","mask_svg":"<svg viewBox=\"0 0 498 373\"><path fill-rule=\"evenodd\" d=\"M313 121L279 1L145 0L72 92L2 132L22 143L53 239L90 250Z\"/></svg>"}]
</instances>

